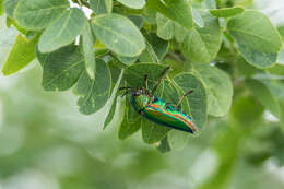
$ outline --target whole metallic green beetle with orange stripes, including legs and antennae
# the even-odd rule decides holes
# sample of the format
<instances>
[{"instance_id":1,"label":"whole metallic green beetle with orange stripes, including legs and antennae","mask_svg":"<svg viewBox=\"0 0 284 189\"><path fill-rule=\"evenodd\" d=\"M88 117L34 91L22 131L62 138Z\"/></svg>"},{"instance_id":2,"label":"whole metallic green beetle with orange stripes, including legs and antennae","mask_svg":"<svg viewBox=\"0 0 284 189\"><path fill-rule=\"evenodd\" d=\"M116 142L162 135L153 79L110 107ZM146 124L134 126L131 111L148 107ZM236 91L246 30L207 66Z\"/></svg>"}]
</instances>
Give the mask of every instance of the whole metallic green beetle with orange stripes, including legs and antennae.
<instances>
[{"instance_id":1,"label":"whole metallic green beetle with orange stripes, including legs and antennae","mask_svg":"<svg viewBox=\"0 0 284 189\"><path fill-rule=\"evenodd\" d=\"M193 133L197 131L197 127L192 122L192 119L185 114L181 108L179 108L184 97L193 91L185 93L176 105L170 105L162 98L153 95L168 70L169 67L161 73L159 79L153 90L149 90L147 74L144 76L144 87L120 87L119 90L126 90L122 96L129 93L131 94L131 105L144 118L162 126Z\"/></svg>"}]
</instances>

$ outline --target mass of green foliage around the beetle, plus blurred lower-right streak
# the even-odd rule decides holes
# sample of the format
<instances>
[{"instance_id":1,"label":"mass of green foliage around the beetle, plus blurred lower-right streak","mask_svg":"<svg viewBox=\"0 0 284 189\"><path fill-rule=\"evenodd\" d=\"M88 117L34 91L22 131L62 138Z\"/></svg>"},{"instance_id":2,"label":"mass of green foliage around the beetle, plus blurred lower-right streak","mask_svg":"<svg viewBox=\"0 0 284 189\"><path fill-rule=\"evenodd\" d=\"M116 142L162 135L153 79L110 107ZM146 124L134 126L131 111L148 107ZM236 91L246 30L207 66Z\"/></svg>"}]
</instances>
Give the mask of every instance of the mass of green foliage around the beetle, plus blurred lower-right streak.
<instances>
[{"instance_id":1,"label":"mass of green foliage around the beetle, plus blurred lower-right streak","mask_svg":"<svg viewBox=\"0 0 284 189\"><path fill-rule=\"evenodd\" d=\"M221 130L213 149L222 163L199 188L225 185L236 154L249 147L242 142L261 140L259 130L270 125L273 131L262 142L274 151L263 145L247 158L284 160L276 153L283 147L276 138L268 140L275 130L284 131L284 22L277 28L261 11L248 10L253 5L249 1L238 0L73 0L72 4L79 8L71 8L68 0L0 1L7 26L19 31L2 66L4 75L36 59L45 91L72 88L80 113L104 111L102 126L119 128L119 139L141 129L145 143L167 152L197 138L143 119L129 97L120 97L118 87L141 87L144 74L152 87L170 66L156 94L175 104L193 90L182 109L191 115L201 138L211 121L222 120L227 127L214 128ZM82 9L91 10L91 16ZM222 149L218 143L224 141L228 143ZM216 184L216 177L224 182Z\"/></svg>"}]
</instances>

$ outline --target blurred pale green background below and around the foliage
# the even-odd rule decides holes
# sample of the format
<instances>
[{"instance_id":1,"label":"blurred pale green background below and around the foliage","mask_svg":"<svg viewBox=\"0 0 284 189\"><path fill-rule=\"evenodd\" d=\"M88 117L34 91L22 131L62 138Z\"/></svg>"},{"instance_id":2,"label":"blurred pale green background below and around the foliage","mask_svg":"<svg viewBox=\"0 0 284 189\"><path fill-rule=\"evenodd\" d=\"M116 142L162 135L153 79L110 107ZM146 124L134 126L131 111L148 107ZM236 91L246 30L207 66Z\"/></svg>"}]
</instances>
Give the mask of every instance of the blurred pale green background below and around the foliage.
<instances>
[{"instance_id":1,"label":"blurred pale green background below and around the foliage","mask_svg":"<svg viewBox=\"0 0 284 189\"><path fill-rule=\"evenodd\" d=\"M251 8L284 25L283 0L255 0ZM5 27L4 17L0 22L1 66L16 31ZM83 116L72 91L44 92L40 82L36 61L0 75L0 189L284 188L284 132L269 113L261 121L244 117L253 128L237 127L232 115L209 118L185 149L161 153L140 132L118 140L120 111L103 131L105 109ZM248 102L235 101L233 108L255 111Z\"/></svg>"}]
</instances>

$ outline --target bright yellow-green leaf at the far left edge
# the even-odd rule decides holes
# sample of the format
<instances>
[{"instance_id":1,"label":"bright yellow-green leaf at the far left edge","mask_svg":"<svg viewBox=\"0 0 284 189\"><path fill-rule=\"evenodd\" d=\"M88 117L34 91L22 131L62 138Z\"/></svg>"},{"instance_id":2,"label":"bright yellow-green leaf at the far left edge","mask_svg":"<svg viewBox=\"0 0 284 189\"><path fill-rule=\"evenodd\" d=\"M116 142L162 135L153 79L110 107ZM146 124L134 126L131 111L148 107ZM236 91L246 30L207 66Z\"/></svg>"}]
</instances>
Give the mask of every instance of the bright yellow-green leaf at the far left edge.
<instances>
[{"instance_id":1,"label":"bright yellow-green leaf at the far left edge","mask_svg":"<svg viewBox=\"0 0 284 189\"><path fill-rule=\"evenodd\" d=\"M34 60L37 40L38 36L28 40L21 34L17 35L2 69L4 75L15 73Z\"/></svg>"}]
</instances>

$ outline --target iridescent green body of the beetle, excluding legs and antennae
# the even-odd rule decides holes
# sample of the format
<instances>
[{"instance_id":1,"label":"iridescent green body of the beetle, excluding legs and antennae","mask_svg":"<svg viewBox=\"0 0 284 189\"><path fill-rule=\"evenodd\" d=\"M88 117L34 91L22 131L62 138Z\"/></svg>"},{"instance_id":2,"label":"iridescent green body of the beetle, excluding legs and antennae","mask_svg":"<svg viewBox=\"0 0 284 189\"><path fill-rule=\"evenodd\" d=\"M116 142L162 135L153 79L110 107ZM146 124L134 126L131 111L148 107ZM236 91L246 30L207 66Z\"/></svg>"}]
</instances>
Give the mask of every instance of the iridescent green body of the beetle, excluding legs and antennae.
<instances>
[{"instance_id":1,"label":"iridescent green body of the beetle, excluding legs and antennae","mask_svg":"<svg viewBox=\"0 0 284 189\"><path fill-rule=\"evenodd\" d=\"M138 113L153 122L190 133L197 131L192 119L187 114L156 96L134 95L132 93L131 104Z\"/></svg>"}]
</instances>

